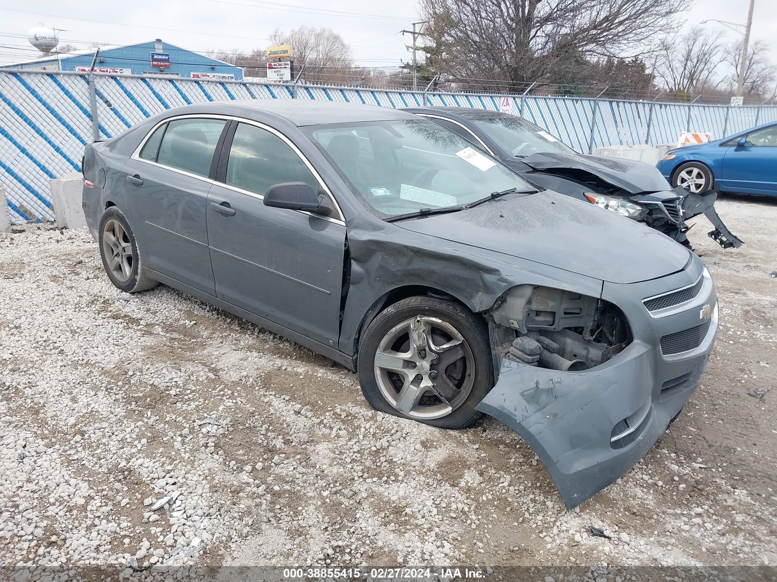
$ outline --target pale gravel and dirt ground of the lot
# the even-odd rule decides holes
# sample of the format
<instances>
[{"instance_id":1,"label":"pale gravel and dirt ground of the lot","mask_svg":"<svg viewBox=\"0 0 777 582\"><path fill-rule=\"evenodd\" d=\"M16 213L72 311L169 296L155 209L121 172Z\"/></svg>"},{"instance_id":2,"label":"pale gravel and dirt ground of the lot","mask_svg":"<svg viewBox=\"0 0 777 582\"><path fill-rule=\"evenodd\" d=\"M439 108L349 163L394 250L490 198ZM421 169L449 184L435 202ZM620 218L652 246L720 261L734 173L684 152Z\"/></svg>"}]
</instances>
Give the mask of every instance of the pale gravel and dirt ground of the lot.
<instances>
[{"instance_id":1,"label":"pale gravel and dirt ground of the lot","mask_svg":"<svg viewBox=\"0 0 777 582\"><path fill-rule=\"evenodd\" d=\"M720 296L702 385L575 511L498 421L378 414L305 348L166 286L118 292L86 230L0 234L0 564L773 566L777 394L748 390L777 379L777 203L719 208L747 245L692 230Z\"/></svg>"}]
</instances>

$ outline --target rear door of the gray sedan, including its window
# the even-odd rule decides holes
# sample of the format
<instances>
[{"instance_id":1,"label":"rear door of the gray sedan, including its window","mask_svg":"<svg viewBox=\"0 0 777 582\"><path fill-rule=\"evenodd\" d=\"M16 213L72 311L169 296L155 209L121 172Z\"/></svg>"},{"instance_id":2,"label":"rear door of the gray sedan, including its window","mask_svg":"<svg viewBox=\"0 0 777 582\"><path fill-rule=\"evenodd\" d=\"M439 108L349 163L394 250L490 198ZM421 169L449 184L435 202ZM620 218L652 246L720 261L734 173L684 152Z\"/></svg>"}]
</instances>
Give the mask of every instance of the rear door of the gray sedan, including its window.
<instances>
[{"instance_id":1,"label":"rear door of the gray sedan, including its window","mask_svg":"<svg viewBox=\"0 0 777 582\"><path fill-rule=\"evenodd\" d=\"M170 120L124 166L124 191L149 266L211 295L206 201L214 152L228 123L207 116Z\"/></svg>"}]
</instances>

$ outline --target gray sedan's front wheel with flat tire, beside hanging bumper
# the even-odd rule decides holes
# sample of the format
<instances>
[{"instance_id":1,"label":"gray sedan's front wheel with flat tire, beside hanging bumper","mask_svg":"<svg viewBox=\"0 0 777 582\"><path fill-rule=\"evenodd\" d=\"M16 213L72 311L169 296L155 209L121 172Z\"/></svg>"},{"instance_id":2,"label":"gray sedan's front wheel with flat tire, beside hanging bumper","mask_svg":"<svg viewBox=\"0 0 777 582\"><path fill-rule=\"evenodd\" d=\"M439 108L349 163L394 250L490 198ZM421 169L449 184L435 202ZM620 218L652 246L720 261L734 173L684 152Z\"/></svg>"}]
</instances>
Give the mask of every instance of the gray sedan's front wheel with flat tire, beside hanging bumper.
<instances>
[{"instance_id":1,"label":"gray sedan's front wheel with flat tire, beside hanging bumper","mask_svg":"<svg viewBox=\"0 0 777 582\"><path fill-rule=\"evenodd\" d=\"M378 314L362 335L361 391L378 411L469 427L493 386L489 346L486 325L459 303L409 297Z\"/></svg>"}]
</instances>

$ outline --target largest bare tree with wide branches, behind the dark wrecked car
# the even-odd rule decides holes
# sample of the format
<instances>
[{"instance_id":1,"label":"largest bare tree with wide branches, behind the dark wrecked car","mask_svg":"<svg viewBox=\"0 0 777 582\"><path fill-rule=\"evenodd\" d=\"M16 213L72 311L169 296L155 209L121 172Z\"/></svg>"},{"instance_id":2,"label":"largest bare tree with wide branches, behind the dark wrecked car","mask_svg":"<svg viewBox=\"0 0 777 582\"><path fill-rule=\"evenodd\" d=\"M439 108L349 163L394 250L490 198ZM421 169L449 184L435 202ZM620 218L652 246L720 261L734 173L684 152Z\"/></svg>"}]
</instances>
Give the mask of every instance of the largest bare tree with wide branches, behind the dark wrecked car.
<instances>
[{"instance_id":1,"label":"largest bare tree with wide branches, behind the dark wrecked car","mask_svg":"<svg viewBox=\"0 0 777 582\"><path fill-rule=\"evenodd\" d=\"M420 0L427 63L455 78L538 81L582 57L646 53L692 0ZM488 88L484 84L483 88Z\"/></svg>"}]
</instances>

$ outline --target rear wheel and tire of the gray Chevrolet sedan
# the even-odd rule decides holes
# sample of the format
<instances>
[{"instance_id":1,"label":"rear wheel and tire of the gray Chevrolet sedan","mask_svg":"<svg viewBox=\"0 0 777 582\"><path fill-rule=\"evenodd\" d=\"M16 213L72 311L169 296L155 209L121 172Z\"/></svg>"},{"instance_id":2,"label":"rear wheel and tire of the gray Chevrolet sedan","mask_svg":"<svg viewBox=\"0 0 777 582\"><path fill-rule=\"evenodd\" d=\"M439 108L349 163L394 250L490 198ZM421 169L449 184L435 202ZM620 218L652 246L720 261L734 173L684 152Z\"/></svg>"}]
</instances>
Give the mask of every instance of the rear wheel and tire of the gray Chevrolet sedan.
<instances>
[{"instance_id":1,"label":"rear wheel and tire of the gray Chevrolet sedan","mask_svg":"<svg viewBox=\"0 0 777 582\"><path fill-rule=\"evenodd\" d=\"M109 206L99 221L99 254L108 279L125 293L138 293L159 285L148 276L138 241L118 206Z\"/></svg>"}]
</instances>

